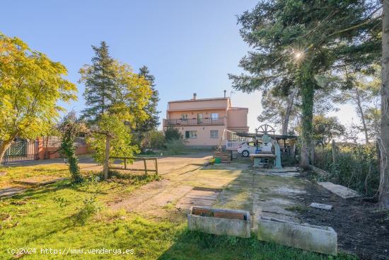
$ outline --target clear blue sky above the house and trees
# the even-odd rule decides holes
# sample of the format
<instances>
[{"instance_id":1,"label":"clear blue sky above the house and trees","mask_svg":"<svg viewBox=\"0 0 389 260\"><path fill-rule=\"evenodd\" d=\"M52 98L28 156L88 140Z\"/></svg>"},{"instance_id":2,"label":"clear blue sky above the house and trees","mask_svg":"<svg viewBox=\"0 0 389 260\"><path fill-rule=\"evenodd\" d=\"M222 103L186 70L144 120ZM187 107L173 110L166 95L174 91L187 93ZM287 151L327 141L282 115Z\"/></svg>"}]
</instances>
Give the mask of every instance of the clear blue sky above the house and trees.
<instances>
[{"instance_id":1,"label":"clear blue sky above the house and trees","mask_svg":"<svg viewBox=\"0 0 389 260\"><path fill-rule=\"evenodd\" d=\"M250 48L240 38L236 16L256 2L3 0L0 32L21 38L66 66L67 79L79 89L78 101L62 104L68 110L85 107L84 86L77 82L79 69L91 64L91 45L105 40L111 56L135 72L149 67L161 98L161 120L166 118L168 101L192 98L194 92L197 98L221 97L226 89L233 106L249 108L248 125L254 131L260 125L256 119L262 111L260 92L233 91L228 73L243 72L238 62ZM332 115L344 124L357 120L349 105Z\"/></svg>"}]
</instances>

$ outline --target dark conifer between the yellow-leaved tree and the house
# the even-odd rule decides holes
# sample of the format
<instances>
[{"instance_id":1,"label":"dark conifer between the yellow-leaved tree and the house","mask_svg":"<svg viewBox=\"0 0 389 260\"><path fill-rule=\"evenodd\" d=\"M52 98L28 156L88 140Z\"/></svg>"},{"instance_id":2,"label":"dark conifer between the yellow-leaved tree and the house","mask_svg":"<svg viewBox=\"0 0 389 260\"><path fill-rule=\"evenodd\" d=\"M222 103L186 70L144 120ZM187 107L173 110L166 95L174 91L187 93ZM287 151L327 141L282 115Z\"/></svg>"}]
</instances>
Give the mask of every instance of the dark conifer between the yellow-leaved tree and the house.
<instances>
[{"instance_id":1,"label":"dark conifer between the yellow-leaved tree and the house","mask_svg":"<svg viewBox=\"0 0 389 260\"><path fill-rule=\"evenodd\" d=\"M141 123L137 127L138 132L147 132L149 130L156 129L159 125L159 116L158 114L160 113L157 110L158 106L158 101L159 101L159 93L158 90L155 89L155 77L150 74L149 68L144 66L139 69L139 76L144 77L147 81L150 83L151 87L151 98L149 100L149 103L147 106L144 108L144 111L146 112L147 115L149 115L149 118L144 121L144 123Z\"/></svg>"}]
</instances>

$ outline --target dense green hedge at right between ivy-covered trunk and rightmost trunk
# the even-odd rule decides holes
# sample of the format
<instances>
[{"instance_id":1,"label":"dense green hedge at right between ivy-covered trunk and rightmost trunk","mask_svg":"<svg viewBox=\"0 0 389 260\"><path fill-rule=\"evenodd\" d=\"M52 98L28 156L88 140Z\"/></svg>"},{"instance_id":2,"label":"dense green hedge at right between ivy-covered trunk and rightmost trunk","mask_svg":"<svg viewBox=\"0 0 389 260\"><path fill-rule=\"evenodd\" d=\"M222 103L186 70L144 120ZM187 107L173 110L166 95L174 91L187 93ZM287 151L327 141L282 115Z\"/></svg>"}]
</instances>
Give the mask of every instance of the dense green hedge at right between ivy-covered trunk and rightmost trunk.
<instances>
[{"instance_id":1,"label":"dense green hedge at right between ivy-covered trunk and rightmost trunk","mask_svg":"<svg viewBox=\"0 0 389 260\"><path fill-rule=\"evenodd\" d=\"M330 172L328 181L342 184L368 197L378 195L380 169L376 145L339 146L336 164L332 163L330 146L317 147L315 166Z\"/></svg>"}]
</instances>

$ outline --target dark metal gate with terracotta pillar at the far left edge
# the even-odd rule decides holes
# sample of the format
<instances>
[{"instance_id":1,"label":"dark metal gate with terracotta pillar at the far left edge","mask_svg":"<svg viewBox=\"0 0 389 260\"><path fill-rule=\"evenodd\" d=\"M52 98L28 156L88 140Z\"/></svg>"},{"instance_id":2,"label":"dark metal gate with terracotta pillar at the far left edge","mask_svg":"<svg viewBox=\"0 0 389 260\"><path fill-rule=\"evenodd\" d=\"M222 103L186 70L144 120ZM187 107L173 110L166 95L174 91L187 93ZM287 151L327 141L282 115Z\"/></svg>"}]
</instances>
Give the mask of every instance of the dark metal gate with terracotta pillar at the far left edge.
<instances>
[{"instance_id":1,"label":"dark metal gate with terracotta pillar at the far left edge","mask_svg":"<svg viewBox=\"0 0 389 260\"><path fill-rule=\"evenodd\" d=\"M6 150L1 163L33 161L38 159L38 141L37 140L16 140Z\"/></svg>"}]
</instances>

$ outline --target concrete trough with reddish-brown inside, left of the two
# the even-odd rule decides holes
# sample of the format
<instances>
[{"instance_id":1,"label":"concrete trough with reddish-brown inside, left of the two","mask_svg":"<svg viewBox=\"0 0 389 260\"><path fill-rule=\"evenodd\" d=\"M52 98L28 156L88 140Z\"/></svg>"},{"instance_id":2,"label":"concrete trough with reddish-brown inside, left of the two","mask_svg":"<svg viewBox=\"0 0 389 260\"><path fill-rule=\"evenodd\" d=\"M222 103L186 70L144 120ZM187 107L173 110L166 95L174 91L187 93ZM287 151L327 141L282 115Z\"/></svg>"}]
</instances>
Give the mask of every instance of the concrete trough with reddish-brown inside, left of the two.
<instances>
[{"instance_id":1,"label":"concrete trough with reddish-brown inside, left of the two","mask_svg":"<svg viewBox=\"0 0 389 260\"><path fill-rule=\"evenodd\" d=\"M189 230L208 234L250 237L250 214L244 210L192 207L187 215Z\"/></svg>"}]
</instances>

